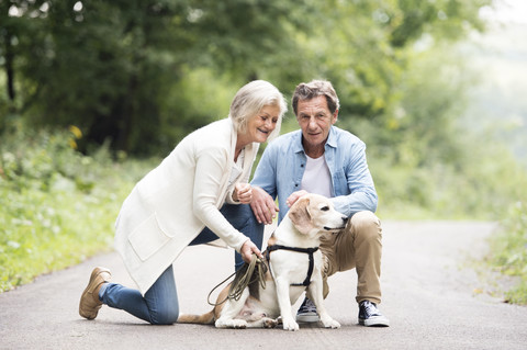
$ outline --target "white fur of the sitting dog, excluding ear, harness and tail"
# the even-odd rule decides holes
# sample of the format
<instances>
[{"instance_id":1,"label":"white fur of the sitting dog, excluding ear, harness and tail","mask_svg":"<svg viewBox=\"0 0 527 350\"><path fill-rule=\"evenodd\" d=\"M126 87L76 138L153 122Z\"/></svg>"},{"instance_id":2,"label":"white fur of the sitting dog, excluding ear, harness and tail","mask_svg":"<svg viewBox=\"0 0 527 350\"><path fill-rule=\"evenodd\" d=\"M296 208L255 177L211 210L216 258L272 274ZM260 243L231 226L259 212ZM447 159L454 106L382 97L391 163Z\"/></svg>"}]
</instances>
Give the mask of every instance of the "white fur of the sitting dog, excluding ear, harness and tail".
<instances>
[{"instance_id":1,"label":"white fur of the sitting dog, excluding ear, harness and tail","mask_svg":"<svg viewBox=\"0 0 527 350\"><path fill-rule=\"evenodd\" d=\"M310 201L307 206L311 216L311 229L304 229L301 233L293 224L289 215L282 219L273 234L274 244L296 247L313 248L318 247L319 236L324 232L324 227L341 229L345 224L343 214L333 208L330 202L319 195L309 194L299 201ZM314 205L313 202L316 202ZM301 203L299 203L301 205ZM328 207L322 211L322 207ZM291 208L294 210L294 206ZM316 309L321 317L321 321L326 328L339 328L340 324L334 320L324 306L323 282L322 282L322 252L317 250L313 255L314 270L311 278L309 292L313 297ZM293 317L292 304L294 304L305 287L293 286L292 283L302 283L307 275L309 255L290 250L274 250L270 253L270 270L272 280L267 281L266 289L260 287L260 300L251 297L248 289L244 291L242 297L235 302L229 300L221 312L221 317L216 320L216 327L240 328L261 327L262 319L276 319L281 316L283 329L299 330L299 325ZM244 311L242 313L242 311ZM248 317L248 316L256 317ZM251 318L251 320L247 320Z\"/></svg>"}]
</instances>

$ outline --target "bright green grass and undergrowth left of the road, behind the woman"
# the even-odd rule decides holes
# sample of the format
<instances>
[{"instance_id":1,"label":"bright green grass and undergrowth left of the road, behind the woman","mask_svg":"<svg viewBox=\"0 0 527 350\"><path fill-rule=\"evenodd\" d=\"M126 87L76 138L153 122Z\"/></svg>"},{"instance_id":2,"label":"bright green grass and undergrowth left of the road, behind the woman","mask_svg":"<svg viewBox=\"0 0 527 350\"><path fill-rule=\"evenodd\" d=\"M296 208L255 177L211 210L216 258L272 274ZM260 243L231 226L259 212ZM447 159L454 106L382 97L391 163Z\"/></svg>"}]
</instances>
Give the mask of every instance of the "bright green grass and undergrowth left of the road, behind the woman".
<instances>
[{"instance_id":1,"label":"bright green grass and undergrowth left of the road, behind the woman","mask_svg":"<svg viewBox=\"0 0 527 350\"><path fill-rule=\"evenodd\" d=\"M75 132L75 134L74 134ZM113 222L144 166L112 163L71 146L71 131L2 135L0 292L109 250Z\"/></svg>"}]
</instances>

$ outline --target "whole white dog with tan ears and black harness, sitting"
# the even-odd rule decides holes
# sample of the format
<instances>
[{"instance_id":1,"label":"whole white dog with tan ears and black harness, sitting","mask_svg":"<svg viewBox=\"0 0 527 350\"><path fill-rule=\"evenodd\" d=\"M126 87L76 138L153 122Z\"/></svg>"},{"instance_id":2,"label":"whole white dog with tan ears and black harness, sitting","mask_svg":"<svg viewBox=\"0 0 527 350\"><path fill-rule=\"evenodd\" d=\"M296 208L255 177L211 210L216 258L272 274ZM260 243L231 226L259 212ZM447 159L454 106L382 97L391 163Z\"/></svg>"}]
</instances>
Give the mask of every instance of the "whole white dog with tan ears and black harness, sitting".
<instances>
[{"instance_id":1,"label":"whole white dog with tan ears and black harness, sitting","mask_svg":"<svg viewBox=\"0 0 527 350\"><path fill-rule=\"evenodd\" d=\"M338 232L347 217L334 210L326 197L306 194L290 208L268 242L265 255L270 270L266 287L258 282L247 286L239 300L229 298L203 315L180 315L178 323L212 324L217 328L272 328L281 316L283 329L298 330L292 307L304 291L309 291L321 321L326 328L339 328L324 307L322 252L319 237ZM228 285L217 301L224 301Z\"/></svg>"}]
</instances>

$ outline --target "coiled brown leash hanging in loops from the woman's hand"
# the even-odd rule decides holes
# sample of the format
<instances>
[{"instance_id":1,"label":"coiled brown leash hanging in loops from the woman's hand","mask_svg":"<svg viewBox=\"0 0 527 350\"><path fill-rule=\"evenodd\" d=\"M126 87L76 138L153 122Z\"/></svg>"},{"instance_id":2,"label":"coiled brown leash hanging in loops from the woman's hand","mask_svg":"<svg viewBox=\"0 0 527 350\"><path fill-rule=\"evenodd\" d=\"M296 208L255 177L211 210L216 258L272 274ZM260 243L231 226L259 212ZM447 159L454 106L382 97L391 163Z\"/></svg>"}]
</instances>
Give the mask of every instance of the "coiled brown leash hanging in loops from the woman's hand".
<instances>
[{"instance_id":1,"label":"coiled brown leash hanging in loops from the woman's hand","mask_svg":"<svg viewBox=\"0 0 527 350\"><path fill-rule=\"evenodd\" d=\"M244 263L244 266L238 271L234 272L228 278L223 280L223 282L221 282L220 284L217 284L215 287L212 289L212 291L209 293L209 296L206 297L206 302L209 303L209 305L217 306L217 305L222 305L227 300L238 301L242 297L242 293L244 293L247 285L255 282L259 282L261 287L266 289L266 276L265 276L266 272L267 272L267 266L265 260L258 258L256 253L253 253L253 257L249 263L247 262ZM212 293L220 285L227 282L227 280L229 280L233 275L236 275L236 276L231 283L231 287L228 289L227 296L220 303L211 303Z\"/></svg>"}]
</instances>

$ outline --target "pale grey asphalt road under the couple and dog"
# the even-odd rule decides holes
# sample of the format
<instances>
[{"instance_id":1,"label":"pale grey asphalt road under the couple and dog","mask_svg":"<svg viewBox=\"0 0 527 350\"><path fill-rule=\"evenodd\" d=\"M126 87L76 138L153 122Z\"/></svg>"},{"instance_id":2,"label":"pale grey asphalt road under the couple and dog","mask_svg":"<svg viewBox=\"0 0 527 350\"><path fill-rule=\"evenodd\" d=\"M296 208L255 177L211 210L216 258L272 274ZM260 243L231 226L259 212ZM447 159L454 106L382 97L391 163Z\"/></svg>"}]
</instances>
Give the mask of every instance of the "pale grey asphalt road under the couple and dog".
<instances>
[{"instance_id":1,"label":"pale grey asphalt road under the couple and dog","mask_svg":"<svg viewBox=\"0 0 527 350\"><path fill-rule=\"evenodd\" d=\"M133 286L116 253L98 256L32 284L0 294L0 349L527 349L527 307L489 296L470 268L495 225L473 222L383 223L383 303L389 328L357 324L356 273L329 279L326 300L340 329L301 325L282 329L150 326L106 306L96 320L78 315L93 267ZM210 290L226 278L232 250L190 247L175 263L180 308L210 309ZM298 306L298 304L296 304Z\"/></svg>"}]
</instances>

